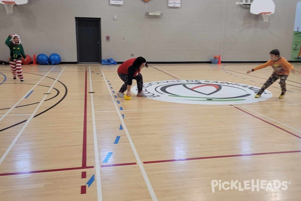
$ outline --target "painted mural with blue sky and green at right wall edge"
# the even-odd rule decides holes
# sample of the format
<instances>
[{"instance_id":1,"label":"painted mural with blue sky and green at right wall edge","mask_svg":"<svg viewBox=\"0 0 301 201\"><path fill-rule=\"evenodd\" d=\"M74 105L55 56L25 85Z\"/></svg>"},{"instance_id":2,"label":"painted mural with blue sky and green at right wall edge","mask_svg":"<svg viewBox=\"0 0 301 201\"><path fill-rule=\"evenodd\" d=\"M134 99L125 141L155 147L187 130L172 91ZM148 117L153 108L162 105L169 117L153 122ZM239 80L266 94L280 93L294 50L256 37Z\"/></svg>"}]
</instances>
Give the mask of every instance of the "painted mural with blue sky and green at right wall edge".
<instances>
[{"instance_id":1,"label":"painted mural with blue sky and green at right wall edge","mask_svg":"<svg viewBox=\"0 0 301 201\"><path fill-rule=\"evenodd\" d=\"M301 1L297 3L292 46L292 61L301 61Z\"/></svg>"}]
</instances>

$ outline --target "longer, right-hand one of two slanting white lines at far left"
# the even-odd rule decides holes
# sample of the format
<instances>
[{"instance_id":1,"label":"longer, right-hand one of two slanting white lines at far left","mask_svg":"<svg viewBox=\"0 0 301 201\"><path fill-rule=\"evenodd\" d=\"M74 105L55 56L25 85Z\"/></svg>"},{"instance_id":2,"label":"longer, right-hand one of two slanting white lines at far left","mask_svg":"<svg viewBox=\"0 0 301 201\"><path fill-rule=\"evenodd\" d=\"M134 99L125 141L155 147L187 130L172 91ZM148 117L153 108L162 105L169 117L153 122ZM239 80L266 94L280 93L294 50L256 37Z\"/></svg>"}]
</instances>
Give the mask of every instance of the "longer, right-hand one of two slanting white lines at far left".
<instances>
[{"instance_id":1,"label":"longer, right-hand one of two slanting white lines at far left","mask_svg":"<svg viewBox=\"0 0 301 201\"><path fill-rule=\"evenodd\" d=\"M53 67L54 68L54 67ZM52 69L53 69L52 68ZM66 68L66 67L65 67ZM64 69L65 69L64 68ZM51 69L51 70L52 70ZM54 84L57 82L58 78L61 76L61 74L63 73L64 69L61 71L61 73L58 75L57 79L54 81L54 83L52 84L52 86L49 88L48 92L49 93ZM50 72L50 71L49 71ZM48 72L48 73L49 73ZM36 107L35 111L33 111L33 113L31 114L31 116L26 120L24 126L21 128L21 130L19 131L19 133L17 134L17 136L15 137L15 139L12 141L11 145L6 149L5 153L2 155L1 159L0 159L0 165L1 163L4 161L5 157L8 155L8 153L10 152L11 148L13 148L14 144L17 142L18 138L21 136L21 134L23 133L23 131L25 130L25 128L27 127L27 125L29 124L29 122L32 120L32 118L34 117L34 115L36 114L36 112L38 111L38 109L40 108L40 106L42 105L42 103L45 101L46 97L48 95L46 94L44 96L44 98L42 99L42 101L39 103L39 105Z\"/></svg>"}]
</instances>

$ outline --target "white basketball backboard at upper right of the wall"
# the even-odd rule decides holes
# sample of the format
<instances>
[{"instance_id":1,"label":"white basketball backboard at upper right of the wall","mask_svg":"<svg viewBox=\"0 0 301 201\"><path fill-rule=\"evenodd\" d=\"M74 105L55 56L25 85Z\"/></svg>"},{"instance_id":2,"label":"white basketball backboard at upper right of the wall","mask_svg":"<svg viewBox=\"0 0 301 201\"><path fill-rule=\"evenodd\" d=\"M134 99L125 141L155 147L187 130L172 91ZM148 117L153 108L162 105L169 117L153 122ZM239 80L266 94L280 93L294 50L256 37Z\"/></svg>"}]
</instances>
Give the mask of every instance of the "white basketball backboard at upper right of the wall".
<instances>
[{"instance_id":1,"label":"white basketball backboard at upper right of the wall","mask_svg":"<svg viewBox=\"0 0 301 201\"><path fill-rule=\"evenodd\" d=\"M260 14L262 12L275 13L275 3L273 0L254 0L250 6L250 12L253 14Z\"/></svg>"}]
</instances>

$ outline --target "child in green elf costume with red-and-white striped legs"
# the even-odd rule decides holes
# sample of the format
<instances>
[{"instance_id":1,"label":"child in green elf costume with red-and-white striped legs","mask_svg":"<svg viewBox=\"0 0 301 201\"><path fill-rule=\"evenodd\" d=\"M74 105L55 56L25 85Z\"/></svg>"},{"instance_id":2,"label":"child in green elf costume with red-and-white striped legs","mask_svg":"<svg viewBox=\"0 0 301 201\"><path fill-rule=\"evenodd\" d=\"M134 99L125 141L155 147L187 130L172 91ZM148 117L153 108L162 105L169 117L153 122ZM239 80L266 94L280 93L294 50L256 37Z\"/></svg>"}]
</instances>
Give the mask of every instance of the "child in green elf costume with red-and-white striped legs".
<instances>
[{"instance_id":1,"label":"child in green elf costume with red-and-white striped legs","mask_svg":"<svg viewBox=\"0 0 301 201\"><path fill-rule=\"evenodd\" d=\"M24 82L23 73L22 73L22 56L26 61L26 55L23 50L23 46L21 45L20 36L17 34L9 35L5 41L5 44L9 47L11 57L9 61L9 65L11 66L11 72L14 76L14 80L16 80L16 76L21 80L21 83Z\"/></svg>"}]
</instances>

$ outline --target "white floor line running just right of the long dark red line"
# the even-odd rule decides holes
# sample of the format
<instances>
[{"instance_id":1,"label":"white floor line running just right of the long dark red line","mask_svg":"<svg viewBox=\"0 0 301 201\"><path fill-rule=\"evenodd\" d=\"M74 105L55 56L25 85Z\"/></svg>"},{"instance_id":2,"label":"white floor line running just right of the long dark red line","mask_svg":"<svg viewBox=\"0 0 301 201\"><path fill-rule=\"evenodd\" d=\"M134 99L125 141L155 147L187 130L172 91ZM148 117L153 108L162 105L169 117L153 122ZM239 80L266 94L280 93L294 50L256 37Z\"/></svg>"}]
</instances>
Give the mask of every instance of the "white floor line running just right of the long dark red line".
<instances>
[{"instance_id":1,"label":"white floor line running just right of the long dark red line","mask_svg":"<svg viewBox=\"0 0 301 201\"><path fill-rule=\"evenodd\" d=\"M90 66L89 66L89 76L90 76L90 91L93 91ZM102 201L100 166L99 166L99 152L98 152L98 143L97 143L98 141L97 141L97 133L96 133L93 93L91 93L91 110L92 110L92 122L93 122L93 138L94 138L94 155L95 155L97 200Z\"/></svg>"}]
</instances>

